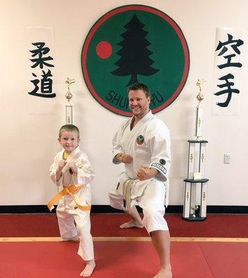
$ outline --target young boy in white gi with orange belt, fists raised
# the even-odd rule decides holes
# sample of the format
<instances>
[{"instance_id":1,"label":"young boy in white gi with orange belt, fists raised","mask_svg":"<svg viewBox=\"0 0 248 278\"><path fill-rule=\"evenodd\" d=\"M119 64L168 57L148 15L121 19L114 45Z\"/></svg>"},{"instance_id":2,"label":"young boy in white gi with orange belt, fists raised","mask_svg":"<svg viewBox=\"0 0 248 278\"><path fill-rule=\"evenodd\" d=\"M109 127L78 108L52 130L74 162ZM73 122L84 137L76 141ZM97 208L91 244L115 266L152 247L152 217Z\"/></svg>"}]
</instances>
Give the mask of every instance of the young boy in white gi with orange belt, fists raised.
<instances>
[{"instance_id":1,"label":"young boy in white gi with orange belt, fists raised","mask_svg":"<svg viewBox=\"0 0 248 278\"><path fill-rule=\"evenodd\" d=\"M58 200L56 213L61 238L67 241L79 240L78 255L86 261L80 276L88 277L95 268L94 250L90 234L90 210L82 208L90 207L88 206L91 202L90 181L94 177L94 172L88 156L78 147L79 141L79 130L76 126L65 124L60 128L58 142L63 151L54 158L50 176L57 186L66 189L70 189L70 186L76 188L73 193L64 195Z\"/></svg>"}]
</instances>

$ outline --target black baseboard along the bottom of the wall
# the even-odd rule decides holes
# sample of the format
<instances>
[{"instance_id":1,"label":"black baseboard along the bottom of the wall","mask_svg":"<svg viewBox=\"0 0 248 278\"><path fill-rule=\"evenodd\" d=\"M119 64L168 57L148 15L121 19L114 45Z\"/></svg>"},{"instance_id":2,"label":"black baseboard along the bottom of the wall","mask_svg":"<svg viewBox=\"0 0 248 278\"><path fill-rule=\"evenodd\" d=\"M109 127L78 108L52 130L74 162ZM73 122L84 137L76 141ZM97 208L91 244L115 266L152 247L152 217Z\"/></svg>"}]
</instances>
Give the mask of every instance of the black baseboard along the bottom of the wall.
<instances>
[{"instance_id":1,"label":"black baseboard along the bottom of the wall","mask_svg":"<svg viewBox=\"0 0 248 278\"><path fill-rule=\"evenodd\" d=\"M142 209L138 207L138 211ZM50 213L45 205L0 206L0 213ZM53 209L52 213L55 213ZM123 213L108 205L92 205L91 213ZM166 213L183 213L183 206L168 206ZM207 206L207 213L248 214L248 206Z\"/></svg>"}]
</instances>

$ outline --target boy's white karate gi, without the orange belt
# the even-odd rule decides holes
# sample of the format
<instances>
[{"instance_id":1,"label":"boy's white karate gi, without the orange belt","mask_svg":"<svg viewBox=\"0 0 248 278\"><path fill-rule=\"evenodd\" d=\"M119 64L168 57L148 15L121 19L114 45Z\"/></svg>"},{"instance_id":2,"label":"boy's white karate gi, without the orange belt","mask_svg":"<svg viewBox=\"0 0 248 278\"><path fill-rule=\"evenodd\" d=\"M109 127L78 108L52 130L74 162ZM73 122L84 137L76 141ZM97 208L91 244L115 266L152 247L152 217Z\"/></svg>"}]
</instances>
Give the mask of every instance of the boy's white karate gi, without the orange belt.
<instances>
[{"instance_id":1,"label":"boy's white karate gi, without the orange belt","mask_svg":"<svg viewBox=\"0 0 248 278\"><path fill-rule=\"evenodd\" d=\"M58 162L63 160L63 153L59 152L54 158L53 165L50 167L50 176L57 186L83 186L73 193L76 202L82 205L91 204L91 190L90 181L94 177L94 172L88 161L88 156L81 152L79 147L69 154L66 159L67 164L63 168L62 176L56 181L56 170ZM78 168L77 174L69 172L68 163L74 162ZM80 243L78 248L78 255L85 261L94 259L93 241L90 234L90 211L81 211L76 208L76 204L72 196L65 195L58 200L58 207L56 209L58 216L58 227L60 229L60 236L63 240L70 240L78 236ZM76 222L76 227L74 224Z\"/></svg>"}]
</instances>

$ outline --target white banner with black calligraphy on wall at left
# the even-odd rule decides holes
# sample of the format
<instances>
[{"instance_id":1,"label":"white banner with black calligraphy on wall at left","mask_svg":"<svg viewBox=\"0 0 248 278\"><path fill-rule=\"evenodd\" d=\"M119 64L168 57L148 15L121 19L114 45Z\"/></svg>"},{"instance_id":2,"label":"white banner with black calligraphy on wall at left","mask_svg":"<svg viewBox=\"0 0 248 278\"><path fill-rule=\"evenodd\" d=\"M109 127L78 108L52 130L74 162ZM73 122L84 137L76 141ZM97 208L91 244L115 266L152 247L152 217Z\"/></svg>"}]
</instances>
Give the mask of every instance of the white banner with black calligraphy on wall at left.
<instances>
[{"instance_id":1,"label":"white banner with black calligraphy on wall at left","mask_svg":"<svg viewBox=\"0 0 248 278\"><path fill-rule=\"evenodd\" d=\"M27 27L28 90L31 114L54 114L53 28ZM42 99L47 99L44 101Z\"/></svg>"}]
</instances>

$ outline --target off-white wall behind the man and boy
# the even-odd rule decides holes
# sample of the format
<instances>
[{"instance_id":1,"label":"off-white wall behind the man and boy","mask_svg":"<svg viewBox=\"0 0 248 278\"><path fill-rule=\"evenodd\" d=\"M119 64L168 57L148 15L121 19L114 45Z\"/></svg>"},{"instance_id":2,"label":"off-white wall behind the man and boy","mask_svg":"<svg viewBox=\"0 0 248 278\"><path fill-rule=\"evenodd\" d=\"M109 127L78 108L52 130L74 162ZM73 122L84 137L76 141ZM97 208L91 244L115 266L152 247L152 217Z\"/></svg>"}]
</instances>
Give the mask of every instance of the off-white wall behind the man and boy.
<instances>
[{"instance_id":1,"label":"off-white wall behind the man and boy","mask_svg":"<svg viewBox=\"0 0 248 278\"><path fill-rule=\"evenodd\" d=\"M187 174L188 139L193 138L197 79L205 79L203 92L204 139L207 146L206 177L209 205L248 205L247 85L240 92L238 116L213 116L213 62L216 27L248 26L246 0L1 0L1 194L0 205L46 204L57 192L49 179L49 166L59 151L58 129L64 124L65 80L72 85L74 124L81 129L81 147L97 174L92 182L93 204L108 204L108 190L122 166L112 164L111 140L126 119L100 106L90 95L81 73L81 49L96 20L109 10L129 3L153 6L181 27L190 49L188 81L179 97L156 115L170 128L172 170L170 204L183 204L183 179ZM51 26L56 65L56 115L29 115L30 85L26 26ZM248 33L248 32L247 32ZM242 51L247 53L248 40ZM247 58L243 65L247 70ZM42 100L41 100L42 101ZM224 153L231 165L223 164Z\"/></svg>"}]
</instances>

